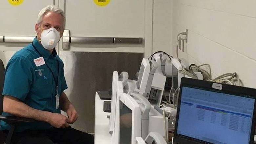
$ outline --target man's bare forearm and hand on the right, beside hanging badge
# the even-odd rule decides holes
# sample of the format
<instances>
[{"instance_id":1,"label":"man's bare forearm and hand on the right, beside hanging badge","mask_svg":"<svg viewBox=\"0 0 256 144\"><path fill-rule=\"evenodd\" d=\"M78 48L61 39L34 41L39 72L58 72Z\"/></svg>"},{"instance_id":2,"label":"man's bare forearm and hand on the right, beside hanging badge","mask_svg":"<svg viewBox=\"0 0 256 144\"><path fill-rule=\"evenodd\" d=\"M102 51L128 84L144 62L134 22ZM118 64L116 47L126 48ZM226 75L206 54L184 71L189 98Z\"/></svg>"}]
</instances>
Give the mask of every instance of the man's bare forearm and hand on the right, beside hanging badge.
<instances>
[{"instance_id":1,"label":"man's bare forearm and hand on the right, beside hanging badge","mask_svg":"<svg viewBox=\"0 0 256 144\"><path fill-rule=\"evenodd\" d=\"M60 95L59 103L60 109L68 114L70 124L73 124L78 118L77 111L75 110L74 106L71 104L67 95L64 92L62 92Z\"/></svg>"}]
</instances>

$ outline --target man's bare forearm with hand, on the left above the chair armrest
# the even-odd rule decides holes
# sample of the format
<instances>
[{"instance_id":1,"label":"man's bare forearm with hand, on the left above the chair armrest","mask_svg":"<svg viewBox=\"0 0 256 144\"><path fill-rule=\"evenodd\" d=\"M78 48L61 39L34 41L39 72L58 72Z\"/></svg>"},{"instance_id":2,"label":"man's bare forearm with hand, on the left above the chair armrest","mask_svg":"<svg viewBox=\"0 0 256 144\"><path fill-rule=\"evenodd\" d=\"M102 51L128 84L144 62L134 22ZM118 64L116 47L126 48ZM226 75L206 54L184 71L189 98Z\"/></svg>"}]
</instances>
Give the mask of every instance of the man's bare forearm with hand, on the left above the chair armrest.
<instances>
[{"instance_id":1,"label":"man's bare forearm with hand, on the left above the chair armrest","mask_svg":"<svg viewBox=\"0 0 256 144\"><path fill-rule=\"evenodd\" d=\"M4 95L3 111L18 117L32 118L37 121L47 122L56 128L69 126L69 119L67 117L58 113L33 109L19 99L8 95Z\"/></svg>"}]
</instances>

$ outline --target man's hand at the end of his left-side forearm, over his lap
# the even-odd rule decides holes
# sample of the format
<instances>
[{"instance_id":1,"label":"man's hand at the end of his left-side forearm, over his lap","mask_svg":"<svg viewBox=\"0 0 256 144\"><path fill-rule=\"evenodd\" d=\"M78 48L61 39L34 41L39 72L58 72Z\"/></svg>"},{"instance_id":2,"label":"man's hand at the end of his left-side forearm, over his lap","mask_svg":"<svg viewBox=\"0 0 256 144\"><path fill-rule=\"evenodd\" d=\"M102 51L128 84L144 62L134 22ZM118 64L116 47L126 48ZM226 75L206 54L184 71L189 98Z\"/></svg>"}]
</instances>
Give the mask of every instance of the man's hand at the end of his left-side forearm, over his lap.
<instances>
[{"instance_id":1,"label":"man's hand at the end of his left-side forearm, over his lap","mask_svg":"<svg viewBox=\"0 0 256 144\"><path fill-rule=\"evenodd\" d=\"M49 123L55 128L67 128L70 120L62 114L51 113Z\"/></svg>"}]
</instances>

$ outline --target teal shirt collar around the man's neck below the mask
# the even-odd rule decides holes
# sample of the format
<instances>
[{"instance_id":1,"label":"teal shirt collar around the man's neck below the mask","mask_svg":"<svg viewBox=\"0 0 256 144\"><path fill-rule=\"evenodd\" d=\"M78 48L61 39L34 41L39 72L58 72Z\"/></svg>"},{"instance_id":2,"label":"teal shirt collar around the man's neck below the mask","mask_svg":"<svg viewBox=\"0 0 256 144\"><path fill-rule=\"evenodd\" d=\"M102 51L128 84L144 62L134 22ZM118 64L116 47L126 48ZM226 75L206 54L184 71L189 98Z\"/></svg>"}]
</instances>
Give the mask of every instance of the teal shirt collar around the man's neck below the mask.
<instances>
[{"instance_id":1,"label":"teal shirt collar around the man's neck below the mask","mask_svg":"<svg viewBox=\"0 0 256 144\"><path fill-rule=\"evenodd\" d=\"M34 40L33 40L33 44L34 46L36 47L37 51L43 56L44 59L48 59L51 55L53 57L55 57L57 55L57 52L55 50L55 48L53 49L53 52L52 54L47 51L40 43L39 41L37 40L37 38L35 37Z\"/></svg>"}]
</instances>

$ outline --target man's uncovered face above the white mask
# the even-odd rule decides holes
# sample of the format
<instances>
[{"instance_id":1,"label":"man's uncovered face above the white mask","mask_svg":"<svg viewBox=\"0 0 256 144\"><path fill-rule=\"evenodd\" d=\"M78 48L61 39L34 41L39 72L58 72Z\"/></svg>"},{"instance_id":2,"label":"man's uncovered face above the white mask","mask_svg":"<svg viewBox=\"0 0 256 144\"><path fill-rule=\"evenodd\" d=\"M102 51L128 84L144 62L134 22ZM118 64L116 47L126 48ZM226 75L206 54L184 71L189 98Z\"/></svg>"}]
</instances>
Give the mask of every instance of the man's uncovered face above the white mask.
<instances>
[{"instance_id":1,"label":"man's uncovered face above the white mask","mask_svg":"<svg viewBox=\"0 0 256 144\"><path fill-rule=\"evenodd\" d=\"M62 37L64 28L63 28L63 18L61 14L55 12L48 12L43 15L42 22L40 24L35 24L35 31L38 40L41 40L41 33L43 30L49 28L55 28L60 32L60 37Z\"/></svg>"}]
</instances>

